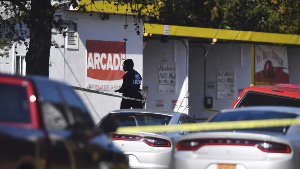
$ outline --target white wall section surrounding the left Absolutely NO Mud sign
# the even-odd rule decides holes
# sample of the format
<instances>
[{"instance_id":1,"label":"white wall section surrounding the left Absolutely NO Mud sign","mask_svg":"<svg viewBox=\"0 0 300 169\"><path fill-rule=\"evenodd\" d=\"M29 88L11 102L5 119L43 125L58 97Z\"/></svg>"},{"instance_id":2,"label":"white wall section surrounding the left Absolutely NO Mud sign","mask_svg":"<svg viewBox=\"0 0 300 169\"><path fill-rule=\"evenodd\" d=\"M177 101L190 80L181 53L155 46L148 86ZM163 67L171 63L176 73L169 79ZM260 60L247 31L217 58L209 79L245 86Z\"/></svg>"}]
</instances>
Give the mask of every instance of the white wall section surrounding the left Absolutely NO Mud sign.
<instances>
[{"instance_id":1,"label":"white wall section surrounding the left Absolutely NO Mud sign","mask_svg":"<svg viewBox=\"0 0 300 169\"><path fill-rule=\"evenodd\" d=\"M188 40L169 40L168 43L161 43L160 40L150 39L147 41L143 50L143 85L148 86L149 101L164 100L163 103L169 104L163 107L156 106L153 103L147 103L147 109L174 110L172 100L183 100L183 106L187 105L188 98L184 97L187 92L188 83L188 57L186 46ZM158 65L175 64L176 65L176 87L173 94L158 93ZM180 103L178 103L180 105ZM188 110L180 108L178 112L188 113Z\"/></svg>"}]
</instances>

